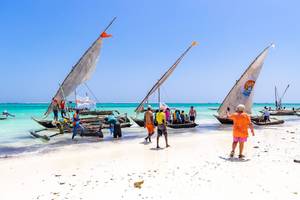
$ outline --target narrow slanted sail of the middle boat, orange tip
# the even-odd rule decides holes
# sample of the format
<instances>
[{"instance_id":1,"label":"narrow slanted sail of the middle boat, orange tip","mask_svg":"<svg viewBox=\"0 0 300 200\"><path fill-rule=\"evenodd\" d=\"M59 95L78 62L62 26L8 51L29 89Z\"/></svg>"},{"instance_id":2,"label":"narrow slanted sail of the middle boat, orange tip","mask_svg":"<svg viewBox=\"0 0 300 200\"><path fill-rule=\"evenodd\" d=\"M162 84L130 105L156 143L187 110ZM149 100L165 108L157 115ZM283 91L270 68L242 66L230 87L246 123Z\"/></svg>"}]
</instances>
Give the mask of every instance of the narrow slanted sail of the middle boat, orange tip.
<instances>
[{"instance_id":1,"label":"narrow slanted sail of the middle boat, orange tip","mask_svg":"<svg viewBox=\"0 0 300 200\"><path fill-rule=\"evenodd\" d=\"M144 104L149 99L149 97L171 76L173 71L176 69L177 65L183 59L183 57L190 51L193 46L196 46L197 42L192 42L192 44L181 54L181 56L176 60L176 62L163 74L163 76L154 84L154 86L147 93L145 98L141 101L138 107L135 109L135 112L139 113L144 110Z\"/></svg>"}]
</instances>

